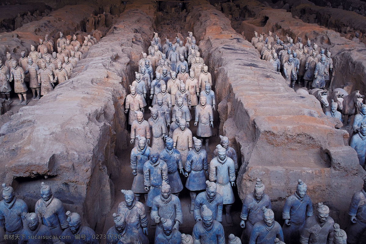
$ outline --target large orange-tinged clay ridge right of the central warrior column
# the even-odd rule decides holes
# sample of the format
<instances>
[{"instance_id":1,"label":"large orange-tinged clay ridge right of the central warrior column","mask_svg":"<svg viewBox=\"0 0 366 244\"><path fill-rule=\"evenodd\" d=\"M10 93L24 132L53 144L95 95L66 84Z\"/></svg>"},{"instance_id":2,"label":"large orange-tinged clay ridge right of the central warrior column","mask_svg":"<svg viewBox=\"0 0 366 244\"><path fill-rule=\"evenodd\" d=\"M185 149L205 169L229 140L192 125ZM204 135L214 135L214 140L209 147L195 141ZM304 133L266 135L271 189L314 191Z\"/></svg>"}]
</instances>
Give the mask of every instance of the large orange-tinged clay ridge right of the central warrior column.
<instances>
[{"instance_id":1,"label":"large orange-tinged clay ridge right of the central warrior column","mask_svg":"<svg viewBox=\"0 0 366 244\"><path fill-rule=\"evenodd\" d=\"M260 177L280 216L285 197L305 179L313 202L328 200L332 217L345 223L352 192L361 182L357 155L344 146L348 133L334 128L313 97L287 87L208 1L196 1L187 22L214 71L224 134L242 155L240 197L253 191Z\"/></svg>"}]
</instances>

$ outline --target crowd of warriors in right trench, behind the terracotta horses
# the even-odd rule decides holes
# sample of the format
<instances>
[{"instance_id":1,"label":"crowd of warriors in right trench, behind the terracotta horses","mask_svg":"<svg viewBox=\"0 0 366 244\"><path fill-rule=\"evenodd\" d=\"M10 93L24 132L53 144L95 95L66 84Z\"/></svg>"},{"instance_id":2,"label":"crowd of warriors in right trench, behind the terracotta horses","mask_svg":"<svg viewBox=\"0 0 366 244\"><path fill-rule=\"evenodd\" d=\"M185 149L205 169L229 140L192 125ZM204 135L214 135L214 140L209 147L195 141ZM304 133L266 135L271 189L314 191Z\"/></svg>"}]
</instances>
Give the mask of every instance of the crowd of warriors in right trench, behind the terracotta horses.
<instances>
[{"instance_id":1,"label":"crowd of warriors in right trench, behind the terracotta horses","mask_svg":"<svg viewBox=\"0 0 366 244\"><path fill-rule=\"evenodd\" d=\"M308 89L328 87L332 78L333 60L330 57L329 50L321 48L308 39L303 44L302 38L298 37L294 43L291 37L285 36L284 41L276 35L272 37L272 32L264 38L258 36L254 31L254 37L251 44L259 51L261 59L269 61L274 71L282 72L288 86L294 88L295 83L303 82L303 86Z\"/></svg>"}]
</instances>

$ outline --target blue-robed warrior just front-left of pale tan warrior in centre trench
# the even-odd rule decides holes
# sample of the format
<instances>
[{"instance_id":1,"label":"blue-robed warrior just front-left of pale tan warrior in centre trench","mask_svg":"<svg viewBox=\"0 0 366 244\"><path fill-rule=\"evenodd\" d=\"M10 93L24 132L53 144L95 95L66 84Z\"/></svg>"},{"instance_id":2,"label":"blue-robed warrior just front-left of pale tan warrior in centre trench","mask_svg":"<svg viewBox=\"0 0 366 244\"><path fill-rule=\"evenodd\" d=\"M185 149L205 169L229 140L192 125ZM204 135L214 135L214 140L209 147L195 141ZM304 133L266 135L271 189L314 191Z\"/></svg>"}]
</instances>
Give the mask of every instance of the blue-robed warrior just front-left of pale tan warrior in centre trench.
<instances>
[{"instance_id":1,"label":"blue-robed warrior just front-left of pale tan warrior in centre trench","mask_svg":"<svg viewBox=\"0 0 366 244\"><path fill-rule=\"evenodd\" d=\"M182 180L179 173L183 174L183 164L180 152L173 147L173 140L165 136L165 149L161 150L159 158L168 166L168 178L171 187L171 193L178 196L183 189ZM179 172L178 172L179 169Z\"/></svg>"}]
</instances>

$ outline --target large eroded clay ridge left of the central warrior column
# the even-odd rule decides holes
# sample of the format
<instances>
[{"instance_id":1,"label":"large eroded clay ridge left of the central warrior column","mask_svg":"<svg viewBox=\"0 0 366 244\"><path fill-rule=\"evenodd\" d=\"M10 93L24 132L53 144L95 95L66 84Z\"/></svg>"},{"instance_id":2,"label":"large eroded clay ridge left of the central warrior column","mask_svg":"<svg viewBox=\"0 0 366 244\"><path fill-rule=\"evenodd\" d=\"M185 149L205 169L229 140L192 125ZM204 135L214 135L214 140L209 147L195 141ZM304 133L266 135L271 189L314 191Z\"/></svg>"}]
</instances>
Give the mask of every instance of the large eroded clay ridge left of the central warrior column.
<instances>
[{"instance_id":1,"label":"large eroded clay ridge left of the central warrior column","mask_svg":"<svg viewBox=\"0 0 366 244\"><path fill-rule=\"evenodd\" d=\"M127 138L123 86L132 80L130 59L153 34L155 13L153 1L128 4L70 80L11 117L0 137L1 182L12 184L27 203L39 199L45 181L92 228L108 213L114 194L109 176L118 172L115 144L123 147Z\"/></svg>"}]
</instances>

